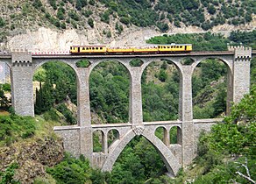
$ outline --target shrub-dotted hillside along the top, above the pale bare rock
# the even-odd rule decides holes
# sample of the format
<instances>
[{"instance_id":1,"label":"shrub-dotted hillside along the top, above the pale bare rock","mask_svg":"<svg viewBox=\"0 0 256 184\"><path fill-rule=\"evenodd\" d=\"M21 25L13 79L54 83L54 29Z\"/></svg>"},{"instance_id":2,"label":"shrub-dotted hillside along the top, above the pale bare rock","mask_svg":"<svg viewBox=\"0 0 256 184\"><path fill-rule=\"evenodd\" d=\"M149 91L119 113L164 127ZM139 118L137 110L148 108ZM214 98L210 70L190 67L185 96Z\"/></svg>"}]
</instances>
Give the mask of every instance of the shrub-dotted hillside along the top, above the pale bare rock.
<instances>
[{"instance_id":1,"label":"shrub-dotted hillside along the top, above the pale bare rock","mask_svg":"<svg viewBox=\"0 0 256 184\"><path fill-rule=\"evenodd\" d=\"M188 25L210 30L250 23L256 7L253 0L1 0L0 4L0 41L40 26L80 31L96 27L108 38L131 25L161 32Z\"/></svg>"}]
</instances>

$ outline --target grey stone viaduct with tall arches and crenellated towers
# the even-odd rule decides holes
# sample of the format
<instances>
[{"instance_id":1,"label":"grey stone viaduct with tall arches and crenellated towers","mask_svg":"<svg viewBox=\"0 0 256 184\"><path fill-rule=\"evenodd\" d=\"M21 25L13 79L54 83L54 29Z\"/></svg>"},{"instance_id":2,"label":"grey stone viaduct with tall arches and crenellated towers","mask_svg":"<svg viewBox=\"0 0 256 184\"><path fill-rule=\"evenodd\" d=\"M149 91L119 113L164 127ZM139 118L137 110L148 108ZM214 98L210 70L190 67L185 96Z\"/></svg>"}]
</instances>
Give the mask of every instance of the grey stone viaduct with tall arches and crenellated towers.
<instances>
[{"instance_id":1,"label":"grey stone viaduct with tall arches and crenellated towers","mask_svg":"<svg viewBox=\"0 0 256 184\"><path fill-rule=\"evenodd\" d=\"M194 60L191 65L182 65L181 60ZM208 58L222 60L228 68L227 109L231 102L238 103L250 86L250 60L252 49L244 46L229 46L228 52L193 52L173 54L140 55L36 55L25 51L13 51L0 55L0 61L11 68L11 98L14 110L22 116L34 116L32 76L36 69L50 60L60 60L75 70L77 76L78 124L54 127L64 140L66 151L75 156L85 155L93 166L110 171L120 152L135 136L145 137L160 153L168 173L175 175L181 166L187 166L196 156L196 142L200 131L209 131L210 126L221 119L193 119L192 74L195 67ZM76 67L79 60L89 60L89 67ZM140 67L132 67L130 61L143 61ZM94 67L106 60L117 60L130 74L129 122L120 124L91 124L89 105L89 75ZM143 122L141 75L153 61L170 60L180 73L179 118L176 121ZM170 145L169 131L177 127L177 144ZM164 130L163 141L155 136L157 128ZM116 130L118 138L108 146L108 132ZM93 152L93 132L102 131L103 151Z\"/></svg>"}]
</instances>

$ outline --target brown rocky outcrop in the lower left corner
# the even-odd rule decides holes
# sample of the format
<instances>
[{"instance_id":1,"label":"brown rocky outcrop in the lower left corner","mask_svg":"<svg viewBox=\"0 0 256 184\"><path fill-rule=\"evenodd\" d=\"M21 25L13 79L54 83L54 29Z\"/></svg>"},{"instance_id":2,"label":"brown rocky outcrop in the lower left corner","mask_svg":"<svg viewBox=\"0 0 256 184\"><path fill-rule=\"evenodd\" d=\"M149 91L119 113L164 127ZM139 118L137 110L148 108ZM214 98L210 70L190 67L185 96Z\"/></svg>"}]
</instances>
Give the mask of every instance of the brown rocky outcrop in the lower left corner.
<instances>
[{"instance_id":1,"label":"brown rocky outcrop in the lower left corner","mask_svg":"<svg viewBox=\"0 0 256 184\"><path fill-rule=\"evenodd\" d=\"M14 180L33 183L35 178L46 176L46 166L54 166L63 159L63 152L60 138L51 137L0 147L0 172L11 163L17 163Z\"/></svg>"}]
</instances>

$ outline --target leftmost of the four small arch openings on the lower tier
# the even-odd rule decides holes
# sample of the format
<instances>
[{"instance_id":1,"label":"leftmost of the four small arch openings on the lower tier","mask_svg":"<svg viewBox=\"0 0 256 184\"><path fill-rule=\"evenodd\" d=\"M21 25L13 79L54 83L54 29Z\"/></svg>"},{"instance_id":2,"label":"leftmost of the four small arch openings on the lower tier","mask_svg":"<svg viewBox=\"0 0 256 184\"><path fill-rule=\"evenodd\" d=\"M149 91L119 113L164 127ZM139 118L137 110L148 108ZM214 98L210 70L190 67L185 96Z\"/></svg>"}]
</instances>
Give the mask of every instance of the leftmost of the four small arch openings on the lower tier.
<instances>
[{"instance_id":1,"label":"leftmost of the four small arch openings on the lower tier","mask_svg":"<svg viewBox=\"0 0 256 184\"><path fill-rule=\"evenodd\" d=\"M93 152L104 152L104 136L101 130L93 131Z\"/></svg>"}]
</instances>

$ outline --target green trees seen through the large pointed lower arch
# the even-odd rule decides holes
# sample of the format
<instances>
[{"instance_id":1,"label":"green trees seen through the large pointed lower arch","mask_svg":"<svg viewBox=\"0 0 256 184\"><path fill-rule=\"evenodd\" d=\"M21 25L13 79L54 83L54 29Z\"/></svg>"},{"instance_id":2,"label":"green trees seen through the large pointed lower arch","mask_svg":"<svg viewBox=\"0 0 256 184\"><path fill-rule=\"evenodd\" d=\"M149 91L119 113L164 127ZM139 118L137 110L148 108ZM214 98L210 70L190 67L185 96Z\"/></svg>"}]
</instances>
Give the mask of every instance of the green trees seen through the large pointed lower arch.
<instances>
[{"instance_id":1,"label":"green trees seen through the large pointed lower arch","mask_svg":"<svg viewBox=\"0 0 256 184\"><path fill-rule=\"evenodd\" d=\"M115 163L110 183L143 183L167 172L160 154L146 138L134 138Z\"/></svg>"}]
</instances>

